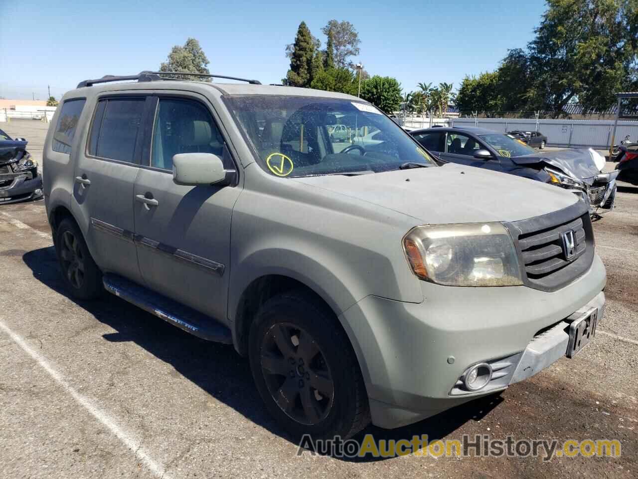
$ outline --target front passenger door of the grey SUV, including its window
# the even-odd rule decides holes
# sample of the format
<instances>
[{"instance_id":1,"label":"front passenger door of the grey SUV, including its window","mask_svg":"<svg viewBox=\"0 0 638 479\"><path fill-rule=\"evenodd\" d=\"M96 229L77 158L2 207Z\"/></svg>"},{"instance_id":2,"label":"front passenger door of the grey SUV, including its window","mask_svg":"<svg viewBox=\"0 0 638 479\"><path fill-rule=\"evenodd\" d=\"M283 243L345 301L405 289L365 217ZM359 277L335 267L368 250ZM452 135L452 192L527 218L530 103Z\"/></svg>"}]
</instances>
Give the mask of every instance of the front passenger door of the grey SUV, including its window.
<instances>
[{"instance_id":1,"label":"front passenger door of the grey SUV, including its window","mask_svg":"<svg viewBox=\"0 0 638 479\"><path fill-rule=\"evenodd\" d=\"M133 211L140 271L154 291L216 319L226 318L230 217L239 186L180 186L178 153L212 153L235 165L207 104L196 96L159 96L150 168L135 181Z\"/></svg>"}]
</instances>

